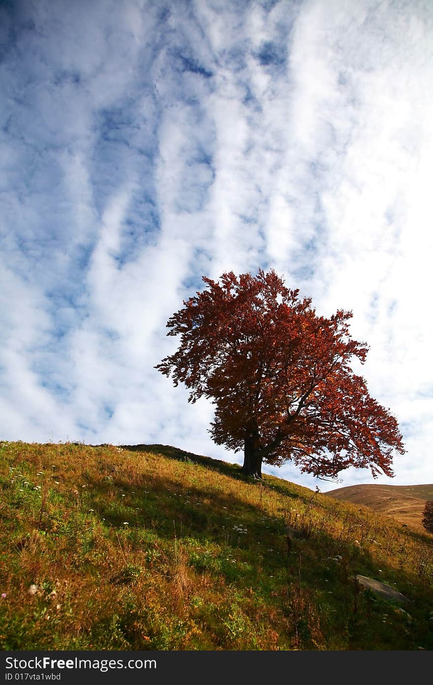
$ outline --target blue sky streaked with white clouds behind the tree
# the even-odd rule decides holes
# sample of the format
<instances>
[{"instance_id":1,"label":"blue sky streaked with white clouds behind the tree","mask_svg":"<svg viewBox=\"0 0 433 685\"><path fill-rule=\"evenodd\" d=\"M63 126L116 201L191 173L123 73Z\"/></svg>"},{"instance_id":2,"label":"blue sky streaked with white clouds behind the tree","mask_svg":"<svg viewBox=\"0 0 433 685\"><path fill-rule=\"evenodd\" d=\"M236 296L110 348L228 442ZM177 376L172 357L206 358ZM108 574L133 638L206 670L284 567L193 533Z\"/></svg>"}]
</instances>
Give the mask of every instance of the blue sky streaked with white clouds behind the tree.
<instances>
[{"instance_id":1,"label":"blue sky streaked with white clouds behind the tree","mask_svg":"<svg viewBox=\"0 0 433 685\"><path fill-rule=\"evenodd\" d=\"M275 269L369 344L376 482L433 482L430 0L1 0L0 93L1 439L240 463L154 366L203 275Z\"/></svg>"}]
</instances>

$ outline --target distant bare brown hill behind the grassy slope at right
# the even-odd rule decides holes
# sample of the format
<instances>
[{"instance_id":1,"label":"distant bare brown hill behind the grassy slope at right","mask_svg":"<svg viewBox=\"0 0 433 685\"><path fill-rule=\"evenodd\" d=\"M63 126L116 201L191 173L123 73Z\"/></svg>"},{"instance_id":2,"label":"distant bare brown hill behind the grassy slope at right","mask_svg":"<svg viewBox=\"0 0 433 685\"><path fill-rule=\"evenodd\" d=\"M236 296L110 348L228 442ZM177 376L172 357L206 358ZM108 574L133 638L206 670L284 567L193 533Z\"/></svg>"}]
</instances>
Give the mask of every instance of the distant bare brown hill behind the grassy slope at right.
<instances>
[{"instance_id":1,"label":"distant bare brown hill behind the grassy slope at right","mask_svg":"<svg viewBox=\"0 0 433 685\"><path fill-rule=\"evenodd\" d=\"M343 502L362 504L400 523L424 530L421 519L425 501L433 499L430 485L351 485L326 493Z\"/></svg>"}]
</instances>

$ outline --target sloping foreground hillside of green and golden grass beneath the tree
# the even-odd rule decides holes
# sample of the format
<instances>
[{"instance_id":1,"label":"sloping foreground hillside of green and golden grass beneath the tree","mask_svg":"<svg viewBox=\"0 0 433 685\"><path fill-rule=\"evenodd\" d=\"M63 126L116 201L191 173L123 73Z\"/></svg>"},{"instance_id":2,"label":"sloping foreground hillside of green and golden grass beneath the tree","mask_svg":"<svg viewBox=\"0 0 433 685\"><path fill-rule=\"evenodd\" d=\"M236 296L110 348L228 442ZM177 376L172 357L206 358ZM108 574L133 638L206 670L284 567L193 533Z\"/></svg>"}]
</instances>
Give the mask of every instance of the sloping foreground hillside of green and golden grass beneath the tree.
<instances>
[{"instance_id":1,"label":"sloping foreground hillside of green and golden grass beneath the tree","mask_svg":"<svg viewBox=\"0 0 433 685\"><path fill-rule=\"evenodd\" d=\"M378 512L163 445L1 443L0 488L3 650L433 647L433 536Z\"/></svg>"}]
</instances>

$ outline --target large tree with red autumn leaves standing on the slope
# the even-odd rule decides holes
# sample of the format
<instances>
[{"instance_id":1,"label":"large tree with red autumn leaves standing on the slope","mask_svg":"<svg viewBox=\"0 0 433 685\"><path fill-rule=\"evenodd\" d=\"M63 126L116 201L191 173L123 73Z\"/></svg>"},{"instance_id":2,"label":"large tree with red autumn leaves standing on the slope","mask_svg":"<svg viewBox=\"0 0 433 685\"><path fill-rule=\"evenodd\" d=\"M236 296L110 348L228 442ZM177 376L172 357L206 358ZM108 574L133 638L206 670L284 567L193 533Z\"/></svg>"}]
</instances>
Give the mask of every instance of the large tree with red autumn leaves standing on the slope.
<instances>
[{"instance_id":1,"label":"large tree with red autumn leaves standing on the slope","mask_svg":"<svg viewBox=\"0 0 433 685\"><path fill-rule=\"evenodd\" d=\"M209 432L218 445L244 450L244 473L261 478L263 461L291 460L317 477L349 466L393 475L402 436L350 367L368 351L349 334L352 312L318 316L311 298L274 271L202 280L207 289L168 320L179 349L155 369L184 383L188 401L213 401Z\"/></svg>"}]
</instances>

